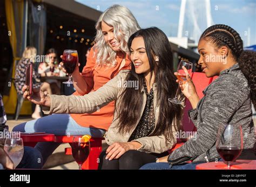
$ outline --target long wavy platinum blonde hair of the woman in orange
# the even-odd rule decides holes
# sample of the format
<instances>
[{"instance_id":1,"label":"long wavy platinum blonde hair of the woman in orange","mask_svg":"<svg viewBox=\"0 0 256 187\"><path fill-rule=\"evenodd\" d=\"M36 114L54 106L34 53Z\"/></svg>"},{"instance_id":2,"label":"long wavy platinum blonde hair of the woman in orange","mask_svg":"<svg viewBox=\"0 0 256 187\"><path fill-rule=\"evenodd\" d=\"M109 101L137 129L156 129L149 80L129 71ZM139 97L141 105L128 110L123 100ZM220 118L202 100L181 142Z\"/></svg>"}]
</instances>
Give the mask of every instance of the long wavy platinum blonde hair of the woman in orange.
<instances>
[{"instance_id":1,"label":"long wavy platinum blonde hair of the woman in orange","mask_svg":"<svg viewBox=\"0 0 256 187\"><path fill-rule=\"evenodd\" d=\"M129 53L127 41L134 32L140 30L137 20L131 11L125 6L113 5L100 15L96 23L97 34L95 37L95 48L97 49L97 64L110 64L114 66L116 62L116 52L114 52L104 40L102 33L102 21L114 28L114 35L120 43L120 50Z\"/></svg>"}]
</instances>

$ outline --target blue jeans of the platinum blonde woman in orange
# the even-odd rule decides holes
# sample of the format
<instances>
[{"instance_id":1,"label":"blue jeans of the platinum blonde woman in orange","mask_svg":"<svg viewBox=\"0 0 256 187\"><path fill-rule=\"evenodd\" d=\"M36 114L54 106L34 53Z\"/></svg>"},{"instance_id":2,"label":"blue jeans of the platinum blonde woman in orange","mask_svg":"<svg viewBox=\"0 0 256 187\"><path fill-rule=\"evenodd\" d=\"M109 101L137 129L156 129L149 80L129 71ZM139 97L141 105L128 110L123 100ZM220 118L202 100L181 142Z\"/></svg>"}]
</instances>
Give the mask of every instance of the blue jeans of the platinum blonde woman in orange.
<instances>
[{"instance_id":1,"label":"blue jeans of the platinum blonde woman in orange","mask_svg":"<svg viewBox=\"0 0 256 187\"><path fill-rule=\"evenodd\" d=\"M14 127L12 131L20 132L46 132L55 135L83 135L89 134L92 137L100 138L105 130L93 127L83 127L76 123L70 114L52 114L43 118L34 119ZM61 143L38 142L35 148L41 152L43 163Z\"/></svg>"}]
</instances>

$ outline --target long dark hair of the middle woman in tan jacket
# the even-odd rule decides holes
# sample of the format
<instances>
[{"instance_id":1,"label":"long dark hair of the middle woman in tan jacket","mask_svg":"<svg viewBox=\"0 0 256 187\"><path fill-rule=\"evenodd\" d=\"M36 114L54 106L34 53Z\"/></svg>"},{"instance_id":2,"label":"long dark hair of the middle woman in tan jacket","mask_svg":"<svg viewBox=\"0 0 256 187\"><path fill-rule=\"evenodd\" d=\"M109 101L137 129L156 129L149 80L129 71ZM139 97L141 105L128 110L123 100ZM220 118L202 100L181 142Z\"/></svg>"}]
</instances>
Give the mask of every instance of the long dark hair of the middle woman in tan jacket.
<instances>
[{"instance_id":1,"label":"long dark hair of the middle woman in tan jacket","mask_svg":"<svg viewBox=\"0 0 256 187\"><path fill-rule=\"evenodd\" d=\"M156 129L150 136L165 135L167 141L176 139L173 137L172 122L174 122L175 130L180 129L180 121L182 117L182 109L180 105L173 105L168 102L168 98L175 96L178 84L176 77L173 75L173 55L172 49L163 31L157 27L145 28L132 34L128 41L129 49L131 49L132 40L137 37L143 37L147 57L149 59L151 77L154 71L157 83L157 105L159 106L159 119L156 121ZM158 63L154 61L154 55L159 57ZM140 111L142 110L142 95L140 89L143 88L144 75L137 74L139 80L134 76L136 74L134 64L130 73L126 77L126 81L138 81L139 89L125 88L118 98L122 103L116 105L117 117L120 121L118 130L120 133L131 132L140 120ZM156 106L154 106L156 107Z\"/></svg>"}]
</instances>

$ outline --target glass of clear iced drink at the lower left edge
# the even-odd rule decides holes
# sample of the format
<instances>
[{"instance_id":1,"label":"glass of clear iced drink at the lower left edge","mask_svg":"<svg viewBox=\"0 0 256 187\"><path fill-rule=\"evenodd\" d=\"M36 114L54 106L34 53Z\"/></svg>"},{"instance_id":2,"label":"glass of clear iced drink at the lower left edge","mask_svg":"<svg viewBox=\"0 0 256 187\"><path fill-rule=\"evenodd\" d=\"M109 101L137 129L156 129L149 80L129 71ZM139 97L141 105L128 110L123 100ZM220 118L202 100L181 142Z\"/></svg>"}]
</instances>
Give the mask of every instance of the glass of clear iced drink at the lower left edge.
<instances>
[{"instance_id":1,"label":"glass of clear iced drink at the lower left edge","mask_svg":"<svg viewBox=\"0 0 256 187\"><path fill-rule=\"evenodd\" d=\"M12 162L14 162L14 168L16 168L24 154L22 138L6 138L4 150L10 156Z\"/></svg>"}]
</instances>

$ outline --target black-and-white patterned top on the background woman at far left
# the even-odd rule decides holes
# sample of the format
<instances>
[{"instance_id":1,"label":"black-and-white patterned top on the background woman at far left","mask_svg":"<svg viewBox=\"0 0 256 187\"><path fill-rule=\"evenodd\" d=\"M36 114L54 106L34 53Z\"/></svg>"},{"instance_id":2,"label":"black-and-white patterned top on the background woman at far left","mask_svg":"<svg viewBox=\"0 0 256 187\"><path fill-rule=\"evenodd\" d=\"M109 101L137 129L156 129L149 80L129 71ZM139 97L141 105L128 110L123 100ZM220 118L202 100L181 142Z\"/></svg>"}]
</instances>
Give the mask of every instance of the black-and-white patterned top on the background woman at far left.
<instances>
[{"instance_id":1,"label":"black-and-white patterned top on the background woman at far left","mask_svg":"<svg viewBox=\"0 0 256 187\"><path fill-rule=\"evenodd\" d=\"M18 94L23 94L22 87L26 83L26 65L29 63L29 59L21 59L18 62L15 71L15 88ZM40 88L40 75L33 69L33 88Z\"/></svg>"}]
</instances>

